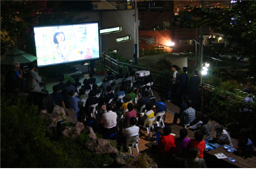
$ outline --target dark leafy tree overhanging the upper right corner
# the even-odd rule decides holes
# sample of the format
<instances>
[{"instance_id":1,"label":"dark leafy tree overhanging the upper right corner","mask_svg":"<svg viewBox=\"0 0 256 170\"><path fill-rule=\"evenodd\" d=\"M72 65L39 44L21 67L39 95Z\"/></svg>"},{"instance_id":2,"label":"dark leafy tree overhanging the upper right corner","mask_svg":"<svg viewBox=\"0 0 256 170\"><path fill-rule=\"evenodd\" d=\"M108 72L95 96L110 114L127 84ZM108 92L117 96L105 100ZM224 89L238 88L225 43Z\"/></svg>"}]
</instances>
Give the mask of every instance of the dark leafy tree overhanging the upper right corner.
<instances>
[{"instance_id":1,"label":"dark leafy tree overhanging the upper right corner","mask_svg":"<svg viewBox=\"0 0 256 170\"><path fill-rule=\"evenodd\" d=\"M232 8L201 9L197 7L186 7L187 13L194 20L186 20L185 24L190 27L201 25L209 27L210 30L222 34L224 41L229 42L224 50L216 49L216 54L232 53L240 57L249 56L247 72L238 77L242 83L250 82L256 85L256 1L237 1ZM242 67L241 67L242 68ZM237 78L238 78L237 77Z\"/></svg>"}]
</instances>

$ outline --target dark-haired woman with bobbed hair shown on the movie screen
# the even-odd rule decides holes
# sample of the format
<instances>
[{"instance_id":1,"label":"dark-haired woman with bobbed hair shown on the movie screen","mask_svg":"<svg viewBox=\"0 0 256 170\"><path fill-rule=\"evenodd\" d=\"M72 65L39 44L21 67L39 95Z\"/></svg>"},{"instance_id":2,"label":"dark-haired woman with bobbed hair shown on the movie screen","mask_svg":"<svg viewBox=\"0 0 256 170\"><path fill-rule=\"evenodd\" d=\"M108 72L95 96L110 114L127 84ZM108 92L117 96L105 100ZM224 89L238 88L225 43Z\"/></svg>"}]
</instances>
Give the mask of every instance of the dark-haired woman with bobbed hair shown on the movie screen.
<instances>
[{"instance_id":1,"label":"dark-haired woman with bobbed hair shown on the movie screen","mask_svg":"<svg viewBox=\"0 0 256 170\"><path fill-rule=\"evenodd\" d=\"M60 58L62 62L68 62L70 51L68 50L68 45L66 44L64 33L59 30L54 33L53 38L54 44L58 44L56 47L57 56Z\"/></svg>"}]
</instances>

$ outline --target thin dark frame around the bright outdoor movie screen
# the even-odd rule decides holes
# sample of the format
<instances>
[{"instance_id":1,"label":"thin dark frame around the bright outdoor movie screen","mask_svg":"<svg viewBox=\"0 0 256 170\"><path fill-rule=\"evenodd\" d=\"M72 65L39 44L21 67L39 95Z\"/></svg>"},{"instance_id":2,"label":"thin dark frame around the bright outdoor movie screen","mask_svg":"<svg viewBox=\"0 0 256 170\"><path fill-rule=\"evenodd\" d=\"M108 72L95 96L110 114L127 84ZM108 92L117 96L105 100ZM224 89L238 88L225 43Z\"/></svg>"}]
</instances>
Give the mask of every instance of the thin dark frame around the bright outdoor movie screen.
<instances>
[{"instance_id":1,"label":"thin dark frame around the bright outdoor movie screen","mask_svg":"<svg viewBox=\"0 0 256 170\"><path fill-rule=\"evenodd\" d=\"M47 64L47 65L38 65L37 63L37 67L46 67L46 66L51 66L51 65L58 65L58 64L67 64L67 63L73 63L73 62L82 62L82 61L91 61L91 60L99 60L101 58L101 34L100 34L100 22L99 21L92 21L92 22L83 22L83 23L75 23L75 24L61 24L61 25L37 25L33 27L33 31L35 30L34 28L38 28L38 27L61 27L61 26L74 26L74 25L87 25L87 24L98 24L98 46L99 46L99 56L95 57L95 58L90 58L90 59L82 59L82 60L75 60L75 61L68 61L68 62L62 62L62 63L51 63L51 64ZM34 33L35 34L35 33ZM34 36L34 47L35 47L35 51L36 51L36 56L37 56L37 45L36 45L36 37ZM37 60L36 60L37 61Z\"/></svg>"}]
</instances>

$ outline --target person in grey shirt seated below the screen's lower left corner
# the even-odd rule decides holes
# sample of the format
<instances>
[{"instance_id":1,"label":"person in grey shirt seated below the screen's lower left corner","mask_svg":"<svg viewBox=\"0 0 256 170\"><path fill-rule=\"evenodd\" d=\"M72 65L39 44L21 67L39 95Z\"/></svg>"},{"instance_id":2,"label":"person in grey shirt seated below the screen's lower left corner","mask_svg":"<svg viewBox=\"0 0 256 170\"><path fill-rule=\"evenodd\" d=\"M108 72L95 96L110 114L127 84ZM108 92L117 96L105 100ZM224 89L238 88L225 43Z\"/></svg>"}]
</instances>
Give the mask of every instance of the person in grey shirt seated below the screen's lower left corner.
<instances>
[{"instance_id":1,"label":"person in grey shirt seated below the screen's lower left corner","mask_svg":"<svg viewBox=\"0 0 256 170\"><path fill-rule=\"evenodd\" d=\"M28 91L39 91L49 93L46 89L40 88L39 82L42 81L42 78L37 74L37 72L35 72L35 63L31 62L27 65L27 67L29 69L29 71L26 73Z\"/></svg>"}]
</instances>

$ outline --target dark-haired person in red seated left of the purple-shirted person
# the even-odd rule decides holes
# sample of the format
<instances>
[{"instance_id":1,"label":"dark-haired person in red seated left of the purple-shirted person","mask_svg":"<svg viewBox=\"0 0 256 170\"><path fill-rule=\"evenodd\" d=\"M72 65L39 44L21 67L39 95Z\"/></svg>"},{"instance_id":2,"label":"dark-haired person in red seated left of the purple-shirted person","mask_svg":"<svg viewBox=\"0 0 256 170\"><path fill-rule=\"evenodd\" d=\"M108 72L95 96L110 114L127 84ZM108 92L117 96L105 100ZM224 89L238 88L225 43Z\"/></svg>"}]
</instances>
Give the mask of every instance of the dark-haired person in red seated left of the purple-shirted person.
<instances>
[{"instance_id":1,"label":"dark-haired person in red seated left of the purple-shirted person","mask_svg":"<svg viewBox=\"0 0 256 170\"><path fill-rule=\"evenodd\" d=\"M172 135L171 126L165 126L163 129L164 135L159 138L157 143L161 156L172 156L175 153L175 140Z\"/></svg>"}]
</instances>

